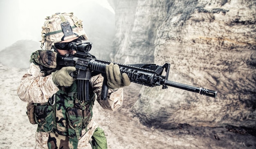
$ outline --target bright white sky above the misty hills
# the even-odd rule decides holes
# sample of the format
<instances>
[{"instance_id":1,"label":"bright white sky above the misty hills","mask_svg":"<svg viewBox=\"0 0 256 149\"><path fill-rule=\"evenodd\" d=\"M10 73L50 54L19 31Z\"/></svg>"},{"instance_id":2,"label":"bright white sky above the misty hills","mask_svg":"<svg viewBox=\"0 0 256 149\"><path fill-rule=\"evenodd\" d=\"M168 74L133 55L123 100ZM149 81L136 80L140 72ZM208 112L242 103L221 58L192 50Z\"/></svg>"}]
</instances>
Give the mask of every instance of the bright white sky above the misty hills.
<instances>
[{"instance_id":1,"label":"bright white sky above the misty hills","mask_svg":"<svg viewBox=\"0 0 256 149\"><path fill-rule=\"evenodd\" d=\"M46 16L73 12L81 18L84 13L97 9L97 4L114 13L107 0L0 0L0 50L20 39L39 41Z\"/></svg>"}]
</instances>

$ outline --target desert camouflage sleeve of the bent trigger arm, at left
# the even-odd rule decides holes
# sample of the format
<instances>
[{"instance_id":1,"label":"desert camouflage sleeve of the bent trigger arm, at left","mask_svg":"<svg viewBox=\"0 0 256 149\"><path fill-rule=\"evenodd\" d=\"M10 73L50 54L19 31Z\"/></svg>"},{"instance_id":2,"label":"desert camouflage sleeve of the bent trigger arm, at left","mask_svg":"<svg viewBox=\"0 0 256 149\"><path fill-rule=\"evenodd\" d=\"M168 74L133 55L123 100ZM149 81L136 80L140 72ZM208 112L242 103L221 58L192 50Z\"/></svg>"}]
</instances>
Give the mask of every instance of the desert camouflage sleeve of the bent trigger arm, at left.
<instances>
[{"instance_id":1,"label":"desert camouflage sleeve of the bent trigger arm, at left","mask_svg":"<svg viewBox=\"0 0 256 149\"><path fill-rule=\"evenodd\" d=\"M17 93L22 101L29 103L46 103L58 91L52 81L52 75L44 77L39 66L31 63L29 71L23 75Z\"/></svg>"}]
</instances>

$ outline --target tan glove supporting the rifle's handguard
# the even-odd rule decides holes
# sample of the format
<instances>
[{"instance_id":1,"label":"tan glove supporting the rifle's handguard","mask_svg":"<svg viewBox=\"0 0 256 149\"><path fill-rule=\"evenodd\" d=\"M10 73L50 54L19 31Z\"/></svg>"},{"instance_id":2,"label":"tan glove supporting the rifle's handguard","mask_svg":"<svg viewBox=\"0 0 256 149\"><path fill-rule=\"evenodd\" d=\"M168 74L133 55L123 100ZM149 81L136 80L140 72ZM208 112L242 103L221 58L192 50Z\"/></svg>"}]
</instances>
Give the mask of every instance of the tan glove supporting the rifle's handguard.
<instances>
[{"instance_id":1,"label":"tan glove supporting the rifle's handguard","mask_svg":"<svg viewBox=\"0 0 256 149\"><path fill-rule=\"evenodd\" d=\"M130 79L126 73L121 75L119 66L117 64L110 63L106 66L106 75L108 79L108 87L113 90L118 88L124 88L130 85Z\"/></svg>"}]
</instances>

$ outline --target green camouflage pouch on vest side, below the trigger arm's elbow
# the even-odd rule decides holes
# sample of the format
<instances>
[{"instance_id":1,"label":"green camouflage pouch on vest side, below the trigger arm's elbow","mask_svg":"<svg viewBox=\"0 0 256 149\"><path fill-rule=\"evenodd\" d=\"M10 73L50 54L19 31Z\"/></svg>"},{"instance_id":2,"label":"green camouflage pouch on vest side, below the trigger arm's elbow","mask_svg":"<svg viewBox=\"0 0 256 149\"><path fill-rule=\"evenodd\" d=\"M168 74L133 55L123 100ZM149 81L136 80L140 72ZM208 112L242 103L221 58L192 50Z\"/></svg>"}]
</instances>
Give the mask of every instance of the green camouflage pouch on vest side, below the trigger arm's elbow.
<instances>
[{"instance_id":1,"label":"green camouflage pouch on vest side, below the trigger arm's elbow","mask_svg":"<svg viewBox=\"0 0 256 149\"><path fill-rule=\"evenodd\" d=\"M51 105L36 105L35 120L38 124L37 131L51 132L53 129L53 110Z\"/></svg>"}]
</instances>

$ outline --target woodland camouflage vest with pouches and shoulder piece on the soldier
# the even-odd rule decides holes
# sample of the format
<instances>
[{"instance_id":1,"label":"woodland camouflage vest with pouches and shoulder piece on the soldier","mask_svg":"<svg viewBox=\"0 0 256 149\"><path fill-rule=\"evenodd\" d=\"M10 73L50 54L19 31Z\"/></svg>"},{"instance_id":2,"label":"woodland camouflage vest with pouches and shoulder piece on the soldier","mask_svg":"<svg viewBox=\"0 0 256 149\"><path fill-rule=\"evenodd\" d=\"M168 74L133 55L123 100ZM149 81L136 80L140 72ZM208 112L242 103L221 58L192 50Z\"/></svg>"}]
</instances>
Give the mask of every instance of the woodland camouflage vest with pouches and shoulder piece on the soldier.
<instances>
[{"instance_id":1,"label":"woodland camouflage vest with pouches and shoulder piece on the soldier","mask_svg":"<svg viewBox=\"0 0 256 149\"><path fill-rule=\"evenodd\" d=\"M47 57L46 60L43 57ZM56 64L54 60L54 52L38 50L32 53L30 61L38 65L46 76L55 71L49 67ZM74 82L70 87L59 87L59 91L49 99L48 103L34 103L35 121L38 124L37 131L54 132L69 138L79 138L81 131L87 129L92 118L92 107L96 99L90 85L89 88L90 101L78 100L77 84Z\"/></svg>"}]
</instances>

